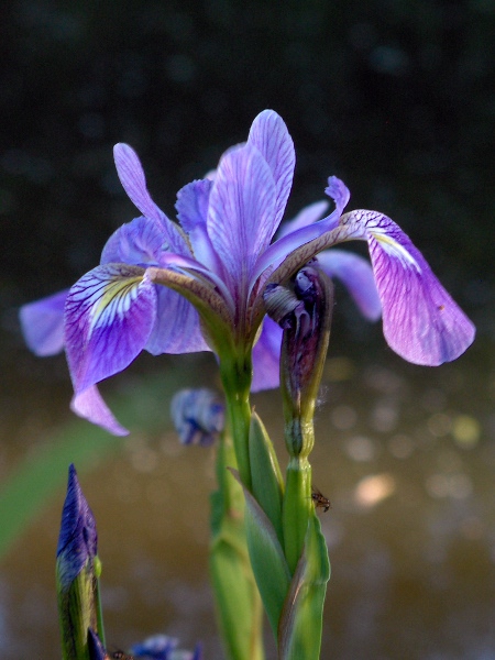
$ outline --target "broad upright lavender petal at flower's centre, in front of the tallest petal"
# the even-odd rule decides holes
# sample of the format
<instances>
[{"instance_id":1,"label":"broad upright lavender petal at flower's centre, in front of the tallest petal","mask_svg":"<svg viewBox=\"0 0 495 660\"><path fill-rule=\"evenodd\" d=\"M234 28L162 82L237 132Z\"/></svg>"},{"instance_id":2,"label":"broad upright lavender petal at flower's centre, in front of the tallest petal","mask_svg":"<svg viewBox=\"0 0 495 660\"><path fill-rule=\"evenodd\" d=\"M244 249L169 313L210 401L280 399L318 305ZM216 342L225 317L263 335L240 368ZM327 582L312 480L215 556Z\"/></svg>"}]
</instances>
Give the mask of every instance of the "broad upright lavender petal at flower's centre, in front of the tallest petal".
<instances>
[{"instance_id":1,"label":"broad upright lavender petal at flower's centre, in front of the tallest petal","mask_svg":"<svg viewBox=\"0 0 495 660\"><path fill-rule=\"evenodd\" d=\"M208 233L230 276L230 290L243 292L256 257L273 234L275 183L265 158L251 144L221 158L210 195Z\"/></svg>"}]
</instances>

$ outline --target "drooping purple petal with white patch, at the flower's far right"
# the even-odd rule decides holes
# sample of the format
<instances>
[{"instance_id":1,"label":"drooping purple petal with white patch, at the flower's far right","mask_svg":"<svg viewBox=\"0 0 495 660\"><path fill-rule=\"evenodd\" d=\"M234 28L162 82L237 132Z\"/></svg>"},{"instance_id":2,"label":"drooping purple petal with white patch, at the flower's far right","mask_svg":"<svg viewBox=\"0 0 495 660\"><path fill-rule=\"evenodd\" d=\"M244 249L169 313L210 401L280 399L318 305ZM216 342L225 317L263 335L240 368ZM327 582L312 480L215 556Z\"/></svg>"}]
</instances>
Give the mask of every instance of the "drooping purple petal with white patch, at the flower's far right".
<instances>
[{"instance_id":1,"label":"drooping purple petal with white patch, at the flower's far right","mask_svg":"<svg viewBox=\"0 0 495 660\"><path fill-rule=\"evenodd\" d=\"M348 222L366 238L389 346L414 364L438 366L459 358L475 328L403 230L377 211L356 210Z\"/></svg>"}]
</instances>

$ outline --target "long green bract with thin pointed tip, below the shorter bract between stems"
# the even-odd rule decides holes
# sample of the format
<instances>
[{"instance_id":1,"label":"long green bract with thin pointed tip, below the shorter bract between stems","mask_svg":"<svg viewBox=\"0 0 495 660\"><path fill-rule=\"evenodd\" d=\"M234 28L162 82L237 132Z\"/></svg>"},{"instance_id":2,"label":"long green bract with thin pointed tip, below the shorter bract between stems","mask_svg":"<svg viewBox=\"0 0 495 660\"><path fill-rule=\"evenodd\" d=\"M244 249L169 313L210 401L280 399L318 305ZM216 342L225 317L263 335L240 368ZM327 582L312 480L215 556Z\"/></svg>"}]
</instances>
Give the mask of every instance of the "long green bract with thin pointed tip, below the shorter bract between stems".
<instances>
[{"instance_id":1,"label":"long green bract with thin pointed tip, below the shorter bract between stems","mask_svg":"<svg viewBox=\"0 0 495 660\"><path fill-rule=\"evenodd\" d=\"M242 485L238 471L230 469L230 472ZM282 607L290 584L290 572L275 528L253 495L244 486L242 488L246 503L245 534L251 565L270 625L276 636Z\"/></svg>"}]
</instances>

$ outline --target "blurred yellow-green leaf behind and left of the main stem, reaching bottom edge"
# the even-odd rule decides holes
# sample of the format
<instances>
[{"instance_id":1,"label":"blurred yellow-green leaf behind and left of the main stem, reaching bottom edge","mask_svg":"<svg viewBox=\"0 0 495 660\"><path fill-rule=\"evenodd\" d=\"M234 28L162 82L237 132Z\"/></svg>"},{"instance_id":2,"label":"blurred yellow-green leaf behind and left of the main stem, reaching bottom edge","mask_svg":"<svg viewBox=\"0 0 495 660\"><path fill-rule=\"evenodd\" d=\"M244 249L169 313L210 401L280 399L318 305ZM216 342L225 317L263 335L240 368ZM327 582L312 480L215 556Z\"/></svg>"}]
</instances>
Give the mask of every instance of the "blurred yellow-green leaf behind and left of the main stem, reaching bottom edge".
<instances>
[{"instance_id":1,"label":"blurred yellow-green leaf behind and left of the main stem, reaching bottom edge","mask_svg":"<svg viewBox=\"0 0 495 660\"><path fill-rule=\"evenodd\" d=\"M224 437L217 458L219 490L211 495L210 574L227 657L263 660L263 607L245 542L244 497L227 471L235 464Z\"/></svg>"}]
</instances>

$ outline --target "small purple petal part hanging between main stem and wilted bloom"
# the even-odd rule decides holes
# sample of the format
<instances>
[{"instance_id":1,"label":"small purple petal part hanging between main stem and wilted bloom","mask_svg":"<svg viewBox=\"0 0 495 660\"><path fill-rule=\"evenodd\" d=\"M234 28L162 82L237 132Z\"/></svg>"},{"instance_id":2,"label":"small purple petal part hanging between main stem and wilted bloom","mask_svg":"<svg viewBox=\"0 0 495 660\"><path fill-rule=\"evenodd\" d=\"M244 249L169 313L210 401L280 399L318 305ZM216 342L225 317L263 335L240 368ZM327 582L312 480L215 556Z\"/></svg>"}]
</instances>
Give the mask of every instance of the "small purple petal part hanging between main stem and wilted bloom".
<instances>
[{"instance_id":1,"label":"small purple petal part hanging between main stem and wilted bloom","mask_svg":"<svg viewBox=\"0 0 495 660\"><path fill-rule=\"evenodd\" d=\"M265 317L263 328L253 349L253 382L251 392L273 389L280 383L282 328Z\"/></svg>"}]
</instances>

